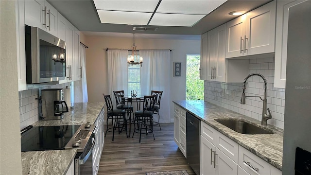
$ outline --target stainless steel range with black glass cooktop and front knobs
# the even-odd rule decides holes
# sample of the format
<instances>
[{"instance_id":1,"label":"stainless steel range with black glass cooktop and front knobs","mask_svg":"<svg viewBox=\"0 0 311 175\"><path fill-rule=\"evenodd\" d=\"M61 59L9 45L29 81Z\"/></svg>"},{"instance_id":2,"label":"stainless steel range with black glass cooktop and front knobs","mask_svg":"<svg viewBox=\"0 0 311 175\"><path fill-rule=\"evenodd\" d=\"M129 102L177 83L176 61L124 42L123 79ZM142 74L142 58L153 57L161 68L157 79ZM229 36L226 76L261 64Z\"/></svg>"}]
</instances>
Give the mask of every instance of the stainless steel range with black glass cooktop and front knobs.
<instances>
[{"instance_id":1,"label":"stainless steel range with black glass cooktop and front knobs","mask_svg":"<svg viewBox=\"0 0 311 175\"><path fill-rule=\"evenodd\" d=\"M75 175L92 175L95 125L28 126L21 130L21 151L76 149Z\"/></svg>"}]
</instances>

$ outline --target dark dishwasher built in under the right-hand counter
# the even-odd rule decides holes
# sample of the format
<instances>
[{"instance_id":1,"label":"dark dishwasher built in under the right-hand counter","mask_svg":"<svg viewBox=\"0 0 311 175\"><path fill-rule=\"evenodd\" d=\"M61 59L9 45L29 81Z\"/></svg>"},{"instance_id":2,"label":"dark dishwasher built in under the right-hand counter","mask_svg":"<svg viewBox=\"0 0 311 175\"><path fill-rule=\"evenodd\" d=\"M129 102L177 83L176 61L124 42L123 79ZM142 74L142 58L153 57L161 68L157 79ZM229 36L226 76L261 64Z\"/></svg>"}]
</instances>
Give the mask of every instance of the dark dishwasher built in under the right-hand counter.
<instances>
[{"instance_id":1,"label":"dark dishwasher built in under the right-hand counter","mask_svg":"<svg viewBox=\"0 0 311 175\"><path fill-rule=\"evenodd\" d=\"M187 163L200 175L200 120L186 113Z\"/></svg>"}]
</instances>

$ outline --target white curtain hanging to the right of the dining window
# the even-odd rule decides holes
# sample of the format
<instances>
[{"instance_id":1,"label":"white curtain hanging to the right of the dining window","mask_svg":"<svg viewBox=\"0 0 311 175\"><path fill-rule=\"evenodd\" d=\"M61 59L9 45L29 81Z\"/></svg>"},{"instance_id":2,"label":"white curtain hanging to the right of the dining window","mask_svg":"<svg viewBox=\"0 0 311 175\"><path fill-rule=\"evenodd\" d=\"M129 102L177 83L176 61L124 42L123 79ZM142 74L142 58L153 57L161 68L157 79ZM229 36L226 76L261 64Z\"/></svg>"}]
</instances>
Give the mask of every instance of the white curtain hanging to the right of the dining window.
<instances>
[{"instance_id":1,"label":"white curtain hanging to the right of the dining window","mask_svg":"<svg viewBox=\"0 0 311 175\"><path fill-rule=\"evenodd\" d=\"M169 50L142 50L144 62L140 70L141 94L151 94L151 90L163 91L160 103L160 123L171 123L170 84L171 61ZM157 117L154 118L157 121Z\"/></svg>"}]
</instances>

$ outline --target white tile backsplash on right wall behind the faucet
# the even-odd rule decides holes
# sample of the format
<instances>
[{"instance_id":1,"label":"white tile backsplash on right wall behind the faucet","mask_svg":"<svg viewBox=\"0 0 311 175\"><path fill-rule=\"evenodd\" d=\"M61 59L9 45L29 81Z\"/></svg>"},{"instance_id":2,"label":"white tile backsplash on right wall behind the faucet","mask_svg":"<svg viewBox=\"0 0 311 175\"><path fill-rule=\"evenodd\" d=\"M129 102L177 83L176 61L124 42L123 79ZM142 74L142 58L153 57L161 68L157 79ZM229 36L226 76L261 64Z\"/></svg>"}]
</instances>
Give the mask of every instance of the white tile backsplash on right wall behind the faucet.
<instances>
[{"instance_id":1,"label":"white tile backsplash on right wall behind the faucet","mask_svg":"<svg viewBox=\"0 0 311 175\"><path fill-rule=\"evenodd\" d=\"M267 123L284 127L285 89L274 88L274 57L250 59L249 73L260 73L267 79L267 108L272 119ZM243 83L204 82L204 101L241 113L261 121L262 101L259 98L246 98L241 105ZM264 83L259 76L252 76L246 82L246 96L263 97Z\"/></svg>"}]
</instances>

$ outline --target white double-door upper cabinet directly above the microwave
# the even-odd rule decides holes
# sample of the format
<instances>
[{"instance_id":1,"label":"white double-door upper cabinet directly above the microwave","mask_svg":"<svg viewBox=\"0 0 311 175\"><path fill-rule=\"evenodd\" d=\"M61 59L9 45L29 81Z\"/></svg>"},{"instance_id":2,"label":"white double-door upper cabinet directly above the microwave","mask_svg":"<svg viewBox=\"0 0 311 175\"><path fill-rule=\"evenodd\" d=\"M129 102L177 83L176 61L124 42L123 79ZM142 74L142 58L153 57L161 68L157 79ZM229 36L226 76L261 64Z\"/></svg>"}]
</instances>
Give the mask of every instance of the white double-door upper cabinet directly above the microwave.
<instances>
[{"instance_id":1,"label":"white double-door upper cabinet directly above the microwave","mask_svg":"<svg viewBox=\"0 0 311 175\"><path fill-rule=\"evenodd\" d=\"M54 36L57 31L57 10L46 0L25 0L25 24L39 27Z\"/></svg>"}]
</instances>

